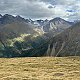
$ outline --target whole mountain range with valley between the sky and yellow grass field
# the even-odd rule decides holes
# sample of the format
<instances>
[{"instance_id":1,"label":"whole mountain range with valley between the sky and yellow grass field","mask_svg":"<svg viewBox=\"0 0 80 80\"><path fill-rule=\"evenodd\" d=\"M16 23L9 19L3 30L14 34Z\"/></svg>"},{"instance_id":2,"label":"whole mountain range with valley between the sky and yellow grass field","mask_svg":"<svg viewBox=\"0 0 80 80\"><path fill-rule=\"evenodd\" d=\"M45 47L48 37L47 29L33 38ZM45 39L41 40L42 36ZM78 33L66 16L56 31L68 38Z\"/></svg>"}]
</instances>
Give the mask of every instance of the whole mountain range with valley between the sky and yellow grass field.
<instances>
[{"instance_id":1,"label":"whole mountain range with valley between the sky and yellow grass field","mask_svg":"<svg viewBox=\"0 0 80 80\"><path fill-rule=\"evenodd\" d=\"M0 15L0 57L79 56L80 22Z\"/></svg>"}]
</instances>

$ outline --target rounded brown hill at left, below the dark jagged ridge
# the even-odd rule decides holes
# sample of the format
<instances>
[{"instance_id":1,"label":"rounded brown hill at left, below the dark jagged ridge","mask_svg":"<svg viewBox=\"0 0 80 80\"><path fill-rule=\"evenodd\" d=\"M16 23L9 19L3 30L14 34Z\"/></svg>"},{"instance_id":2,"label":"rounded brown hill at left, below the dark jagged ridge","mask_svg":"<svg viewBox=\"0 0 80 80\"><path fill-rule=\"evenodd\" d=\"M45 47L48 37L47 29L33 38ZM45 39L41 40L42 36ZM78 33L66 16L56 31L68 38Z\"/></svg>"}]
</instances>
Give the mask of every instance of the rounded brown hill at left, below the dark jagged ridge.
<instances>
[{"instance_id":1,"label":"rounded brown hill at left, below the dark jagged ridge","mask_svg":"<svg viewBox=\"0 0 80 80\"><path fill-rule=\"evenodd\" d=\"M43 32L35 28L32 24L19 21L6 24L0 28L0 38L3 42L6 42L8 39L19 38L22 35L24 38L26 38L27 35L37 38L37 36L42 36ZM28 39L29 38L31 37L28 37Z\"/></svg>"}]
</instances>

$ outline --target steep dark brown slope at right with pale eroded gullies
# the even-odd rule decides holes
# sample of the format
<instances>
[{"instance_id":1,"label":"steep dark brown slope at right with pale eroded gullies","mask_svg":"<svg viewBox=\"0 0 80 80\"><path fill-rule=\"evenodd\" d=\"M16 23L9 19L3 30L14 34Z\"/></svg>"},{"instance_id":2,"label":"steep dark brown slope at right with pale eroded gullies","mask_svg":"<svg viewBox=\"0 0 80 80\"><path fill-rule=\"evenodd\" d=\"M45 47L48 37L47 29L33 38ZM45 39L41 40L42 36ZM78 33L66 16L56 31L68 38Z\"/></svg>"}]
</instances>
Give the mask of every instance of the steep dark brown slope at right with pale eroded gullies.
<instances>
[{"instance_id":1,"label":"steep dark brown slope at right with pale eroded gullies","mask_svg":"<svg viewBox=\"0 0 80 80\"><path fill-rule=\"evenodd\" d=\"M53 37L47 56L80 56L80 22Z\"/></svg>"}]
</instances>

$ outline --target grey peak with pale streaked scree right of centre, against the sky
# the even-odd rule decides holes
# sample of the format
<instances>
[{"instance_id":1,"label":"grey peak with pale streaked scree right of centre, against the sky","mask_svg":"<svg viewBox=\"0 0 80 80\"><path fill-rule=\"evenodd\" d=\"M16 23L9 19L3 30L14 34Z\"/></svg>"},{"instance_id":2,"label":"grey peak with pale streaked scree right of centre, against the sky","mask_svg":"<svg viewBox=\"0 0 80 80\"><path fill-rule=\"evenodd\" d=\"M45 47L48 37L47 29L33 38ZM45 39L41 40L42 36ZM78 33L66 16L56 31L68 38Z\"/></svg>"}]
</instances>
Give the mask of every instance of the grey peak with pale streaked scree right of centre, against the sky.
<instances>
[{"instance_id":1,"label":"grey peak with pale streaked scree right of centre, against the sky","mask_svg":"<svg viewBox=\"0 0 80 80\"><path fill-rule=\"evenodd\" d=\"M72 25L74 25L73 22L69 22L59 17L56 17L43 26L43 30L45 32L44 35L51 38L57 34L60 34L62 31L71 27Z\"/></svg>"}]
</instances>

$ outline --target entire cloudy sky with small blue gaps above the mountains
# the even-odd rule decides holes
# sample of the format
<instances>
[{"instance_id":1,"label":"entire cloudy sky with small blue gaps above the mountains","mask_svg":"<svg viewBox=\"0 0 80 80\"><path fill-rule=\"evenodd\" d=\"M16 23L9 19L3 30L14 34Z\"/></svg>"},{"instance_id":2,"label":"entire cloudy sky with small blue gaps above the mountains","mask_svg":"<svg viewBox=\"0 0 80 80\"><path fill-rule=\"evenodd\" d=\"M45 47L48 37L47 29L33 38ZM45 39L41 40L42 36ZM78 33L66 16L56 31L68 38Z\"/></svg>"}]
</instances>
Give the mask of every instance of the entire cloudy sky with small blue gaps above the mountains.
<instances>
[{"instance_id":1,"label":"entire cloudy sky with small blue gaps above the mountains","mask_svg":"<svg viewBox=\"0 0 80 80\"><path fill-rule=\"evenodd\" d=\"M80 20L80 0L0 0L0 14L31 19Z\"/></svg>"}]
</instances>

